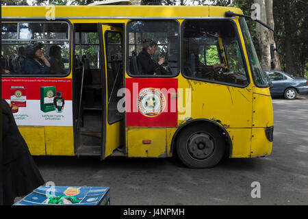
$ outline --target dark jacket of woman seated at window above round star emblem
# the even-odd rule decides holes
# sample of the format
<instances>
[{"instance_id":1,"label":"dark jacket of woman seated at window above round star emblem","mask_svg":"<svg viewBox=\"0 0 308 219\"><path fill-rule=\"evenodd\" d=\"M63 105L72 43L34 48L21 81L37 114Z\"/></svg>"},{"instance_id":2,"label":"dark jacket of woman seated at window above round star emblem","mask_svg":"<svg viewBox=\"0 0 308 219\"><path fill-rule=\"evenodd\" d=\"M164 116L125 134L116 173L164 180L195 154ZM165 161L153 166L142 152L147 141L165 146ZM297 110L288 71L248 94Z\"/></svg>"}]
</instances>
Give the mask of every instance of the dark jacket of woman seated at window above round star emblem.
<instances>
[{"instance_id":1,"label":"dark jacket of woman seated at window above round star emblem","mask_svg":"<svg viewBox=\"0 0 308 219\"><path fill-rule=\"evenodd\" d=\"M137 56L138 71L140 75L154 75L154 71L159 64L144 49Z\"/></svg>"}]
</instances>

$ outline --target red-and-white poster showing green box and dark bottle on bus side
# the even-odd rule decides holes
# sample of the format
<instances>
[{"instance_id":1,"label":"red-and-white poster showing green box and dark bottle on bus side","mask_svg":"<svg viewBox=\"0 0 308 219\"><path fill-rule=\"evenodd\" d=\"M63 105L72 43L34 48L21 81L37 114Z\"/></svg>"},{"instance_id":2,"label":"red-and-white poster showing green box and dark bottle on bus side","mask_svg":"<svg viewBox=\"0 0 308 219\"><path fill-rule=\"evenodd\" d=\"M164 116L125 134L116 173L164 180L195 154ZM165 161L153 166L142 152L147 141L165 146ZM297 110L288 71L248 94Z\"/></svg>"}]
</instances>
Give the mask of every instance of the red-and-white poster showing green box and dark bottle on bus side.
<instances>
[{"instance_id":1,"label":"red-and-white poster showing green box and dark bottle on bus side","mask_svg":"<svg viewBox=\"0 0 308 219\"><path fill-rule=\"evenodd\" d=\"M20 126L73 126L72 80L3 78L2 98Z\"/></svg>"}]
</instances>

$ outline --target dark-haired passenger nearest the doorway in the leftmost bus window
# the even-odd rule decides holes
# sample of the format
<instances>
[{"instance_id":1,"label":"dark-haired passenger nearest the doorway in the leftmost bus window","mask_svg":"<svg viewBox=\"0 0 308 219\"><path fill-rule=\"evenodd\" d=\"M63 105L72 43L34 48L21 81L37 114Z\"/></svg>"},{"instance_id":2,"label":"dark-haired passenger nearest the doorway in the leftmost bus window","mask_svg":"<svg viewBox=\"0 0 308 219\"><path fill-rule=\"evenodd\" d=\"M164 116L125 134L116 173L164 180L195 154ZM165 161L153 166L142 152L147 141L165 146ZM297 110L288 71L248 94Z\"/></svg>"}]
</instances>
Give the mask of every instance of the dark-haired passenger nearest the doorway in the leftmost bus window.
<instances>
[{"instance_id":1,"label":"dark-haired passenger nearest the doorway in the leftmost bus window","mask_svg":"<svg viewBox=\"0 0 308 219\"><path fill-rule=\"evenodd\" d=\"M55 75L66 74L64 63L62 62L62 51L59 46L52 46L49 49L49 63L51 64L50 73Z\"/></svg>"}]
</instances>

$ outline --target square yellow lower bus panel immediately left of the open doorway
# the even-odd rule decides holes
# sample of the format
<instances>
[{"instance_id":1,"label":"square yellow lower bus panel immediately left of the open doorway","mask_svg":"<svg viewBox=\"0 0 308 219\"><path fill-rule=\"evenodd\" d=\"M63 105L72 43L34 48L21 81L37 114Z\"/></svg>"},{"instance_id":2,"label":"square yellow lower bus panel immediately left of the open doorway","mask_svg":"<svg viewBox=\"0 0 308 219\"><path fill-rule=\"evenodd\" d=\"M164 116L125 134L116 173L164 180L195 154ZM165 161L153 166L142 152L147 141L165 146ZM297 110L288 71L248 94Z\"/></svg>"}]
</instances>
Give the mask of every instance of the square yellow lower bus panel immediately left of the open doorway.
<instances>
[{"instance_id":1,"label":"square yellow lower bus panel immediately left of the open doorway","mask_svg":"<svg viewBox=\"0 0 308 219\"><path fill-rule=\"evenodd\" d=\"M73 156L73 127L44 127L47 155Z\"/></svg>"}]
</instances>

